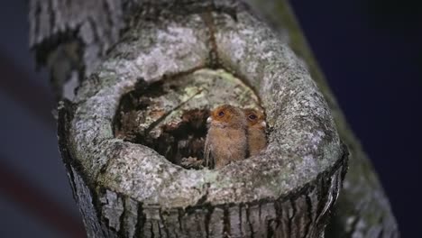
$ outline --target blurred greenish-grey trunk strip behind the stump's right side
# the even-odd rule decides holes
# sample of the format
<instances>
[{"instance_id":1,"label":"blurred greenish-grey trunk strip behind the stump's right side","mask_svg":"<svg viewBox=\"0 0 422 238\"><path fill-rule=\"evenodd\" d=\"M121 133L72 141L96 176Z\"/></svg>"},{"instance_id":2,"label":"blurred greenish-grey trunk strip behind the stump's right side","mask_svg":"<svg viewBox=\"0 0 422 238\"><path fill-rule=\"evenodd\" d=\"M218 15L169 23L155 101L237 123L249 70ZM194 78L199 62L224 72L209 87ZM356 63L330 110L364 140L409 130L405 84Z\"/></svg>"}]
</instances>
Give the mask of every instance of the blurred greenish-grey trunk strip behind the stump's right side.
<instances>
[{"instance_id":1,"label":"blurred greenish-grey trunk strip behind the stump's right side","mask_svg":"<svg viewBox=\"0 0 422 238\"><path fill-rule=\"evenodd\" d=\"M289 4L285 0L247 2L271 23L273 28L284 32L283 35L289 35L289 46L307 63L312 78L333 112L340 138L351 153L350 168L344 178L344 189L336 203L334 216L327 227L327 237L399 237L396 219L372 163L347 124L326 78L307 46Z\"/></svg>"}]
</instances>

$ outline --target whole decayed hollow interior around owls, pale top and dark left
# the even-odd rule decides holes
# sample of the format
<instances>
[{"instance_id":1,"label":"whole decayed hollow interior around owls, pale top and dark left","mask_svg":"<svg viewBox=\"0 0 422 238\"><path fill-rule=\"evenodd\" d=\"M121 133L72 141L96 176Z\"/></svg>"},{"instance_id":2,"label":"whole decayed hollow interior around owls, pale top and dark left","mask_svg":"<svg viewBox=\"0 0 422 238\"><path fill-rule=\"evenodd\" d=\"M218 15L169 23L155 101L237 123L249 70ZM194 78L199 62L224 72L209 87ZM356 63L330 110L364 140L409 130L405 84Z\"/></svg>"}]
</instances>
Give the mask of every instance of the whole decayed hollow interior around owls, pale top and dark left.
<instances>
[{"instance_id":1,"label":"whole decayed hollow interior around owls, pale top and dark left","mask_svg":"<svg viewBox=\"0 0 422 238\"><path fill-rule=\"evenodd\" d=\"M115 115L115 137L146 145L187 169L200 169L206 118L217 105L259 109L259 98L224 69L197 71L151 84L139 79Z\"/></svg>"}]
</instances>

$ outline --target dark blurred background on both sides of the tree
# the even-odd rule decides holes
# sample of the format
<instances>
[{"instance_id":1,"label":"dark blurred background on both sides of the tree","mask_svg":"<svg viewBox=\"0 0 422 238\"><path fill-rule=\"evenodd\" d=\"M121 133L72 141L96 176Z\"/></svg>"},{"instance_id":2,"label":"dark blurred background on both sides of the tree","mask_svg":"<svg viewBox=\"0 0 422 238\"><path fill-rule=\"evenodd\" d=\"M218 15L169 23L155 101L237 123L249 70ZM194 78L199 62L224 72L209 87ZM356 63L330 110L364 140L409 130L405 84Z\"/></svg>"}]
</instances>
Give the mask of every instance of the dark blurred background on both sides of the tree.
<instances>
[{"instance_id":1,"label":"dark blurred background on both sides of the tree","mask_svg":"<svg viewBox=\"0 0 422 238\"><path fill-rule=\"evenodd\" d=\"M290 1L390 198L402 237L420 233L422 6ZM58 151L46 72L28 49L27 1L0 8L0 237L84 237Z\"/></svg>"}]
</instances>

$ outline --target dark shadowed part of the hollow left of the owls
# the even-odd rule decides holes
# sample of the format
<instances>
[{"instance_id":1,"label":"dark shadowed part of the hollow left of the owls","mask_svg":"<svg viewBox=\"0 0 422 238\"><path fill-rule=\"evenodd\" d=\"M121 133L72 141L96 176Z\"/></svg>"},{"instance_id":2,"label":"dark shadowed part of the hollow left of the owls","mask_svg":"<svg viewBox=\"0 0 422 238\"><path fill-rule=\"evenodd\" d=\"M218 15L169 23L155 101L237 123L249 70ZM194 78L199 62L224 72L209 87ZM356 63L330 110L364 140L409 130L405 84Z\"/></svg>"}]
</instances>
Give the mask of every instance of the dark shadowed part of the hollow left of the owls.
<instances>
[{"instance_id":1,"label":"dark shadowed part of the hollow left of the owls","mask_svg":"<svg viewBox=\"0 0 422 238\"><path fill-rule=\"evenodd\" d=\"M177 80L173 81L174 84L163 81L147 84L139 80L133 91L122 96L114 118L115 137L148 146L186 169L202 169L209 109L182 110L179 105L169 111L154 102L155 98L179 88ZM181 116L164 123L175 110L181 110ZM151 117L157 119L148 122Z\"/></svg>"}]
</instances>

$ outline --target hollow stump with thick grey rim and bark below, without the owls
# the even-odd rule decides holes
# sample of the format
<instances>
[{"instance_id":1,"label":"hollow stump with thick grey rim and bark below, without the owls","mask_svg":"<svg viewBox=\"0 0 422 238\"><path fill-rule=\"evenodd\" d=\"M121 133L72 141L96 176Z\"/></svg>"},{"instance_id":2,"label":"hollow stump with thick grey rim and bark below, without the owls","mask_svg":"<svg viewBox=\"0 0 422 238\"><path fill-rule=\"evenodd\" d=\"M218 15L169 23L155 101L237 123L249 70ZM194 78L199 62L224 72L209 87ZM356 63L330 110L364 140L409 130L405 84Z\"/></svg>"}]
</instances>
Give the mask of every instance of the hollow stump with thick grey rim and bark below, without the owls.
<instances>
[{"instance_id":1,"label":"hollow stump with thick grey rim and bark below, without the owls","mask_svg":"<svg viewBox=\"0 0 422 238\"><path fill-rule=\"evenodd\" d=\"M319 237L346 160L326 101L243 7L206 9L140 17L61 110L88 233ZM200 153L179 144L200 144L207 109L223 103L265 109L267 149L223 169L176 165Z\"/></svg>"}]
</instances>

